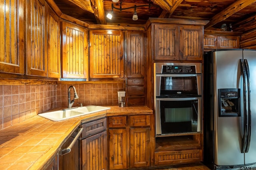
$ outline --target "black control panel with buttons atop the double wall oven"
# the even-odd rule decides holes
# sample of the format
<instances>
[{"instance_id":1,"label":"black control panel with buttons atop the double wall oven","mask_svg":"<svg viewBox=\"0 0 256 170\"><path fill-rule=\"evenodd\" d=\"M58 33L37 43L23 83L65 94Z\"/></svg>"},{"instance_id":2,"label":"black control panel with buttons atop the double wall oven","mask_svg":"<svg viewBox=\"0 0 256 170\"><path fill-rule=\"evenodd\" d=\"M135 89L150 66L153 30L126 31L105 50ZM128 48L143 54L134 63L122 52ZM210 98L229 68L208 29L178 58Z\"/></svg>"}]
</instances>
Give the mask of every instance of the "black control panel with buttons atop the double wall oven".
<instances>
[{"instance_id":1,"label":"black control panel with buttons atop the double wall oven","mask_svg":"<svg viewBox=\"0 0 256 170\"><path fill-rule=\"evenodd\" d=\"M162 66L162 74L166 73L196 73L196 66L184 65L184 66Z\"/></svg>"}]
</instances>

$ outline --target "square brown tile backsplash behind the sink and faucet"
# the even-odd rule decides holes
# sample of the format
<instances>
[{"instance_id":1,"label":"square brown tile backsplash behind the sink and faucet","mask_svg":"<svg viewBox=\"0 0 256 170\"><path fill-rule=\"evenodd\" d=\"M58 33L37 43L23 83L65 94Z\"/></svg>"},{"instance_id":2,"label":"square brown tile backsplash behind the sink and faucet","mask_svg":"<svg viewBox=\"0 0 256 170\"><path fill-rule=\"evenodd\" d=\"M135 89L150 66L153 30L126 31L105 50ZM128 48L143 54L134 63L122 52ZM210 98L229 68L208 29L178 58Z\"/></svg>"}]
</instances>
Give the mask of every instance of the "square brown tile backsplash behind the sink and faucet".
<instances>
[{"instance_id":1,"label":"square brown tile backsplash behind the sink and faucet","mask_svg":"<svg viewBox=\"0 0 256 170\"><path fill-rule=\"evenodd\" d=\"M4 129L55 107L68 106L68 88L73 85L77 102L85 105L118 105L118 90L123 83L0 85L0 129ZM71 100L74 98L70 90Z\"/></svg>"}]
</instances>

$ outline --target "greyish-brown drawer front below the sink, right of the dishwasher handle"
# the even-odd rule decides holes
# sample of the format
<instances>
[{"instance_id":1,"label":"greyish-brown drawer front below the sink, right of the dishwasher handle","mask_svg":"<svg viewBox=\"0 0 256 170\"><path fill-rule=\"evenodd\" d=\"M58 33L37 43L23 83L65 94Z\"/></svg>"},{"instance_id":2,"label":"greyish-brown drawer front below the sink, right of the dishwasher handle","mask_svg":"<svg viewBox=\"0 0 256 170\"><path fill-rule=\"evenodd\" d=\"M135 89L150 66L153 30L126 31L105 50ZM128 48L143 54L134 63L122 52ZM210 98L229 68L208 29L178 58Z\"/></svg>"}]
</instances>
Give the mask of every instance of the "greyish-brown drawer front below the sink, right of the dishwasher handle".
<instances>
[{"instance_id":1,"label":"greyish-brown drawer front below the sink, right of the dishwasher handle","mask_svg":"<svg viewBox=\"0 0 256 170\"><path fill-rule=\"evenodd\" d=\"M82 138L94 135L107 129L107 118L84 123L82 127L84 128Z\"/></svg>"}]
</instances>

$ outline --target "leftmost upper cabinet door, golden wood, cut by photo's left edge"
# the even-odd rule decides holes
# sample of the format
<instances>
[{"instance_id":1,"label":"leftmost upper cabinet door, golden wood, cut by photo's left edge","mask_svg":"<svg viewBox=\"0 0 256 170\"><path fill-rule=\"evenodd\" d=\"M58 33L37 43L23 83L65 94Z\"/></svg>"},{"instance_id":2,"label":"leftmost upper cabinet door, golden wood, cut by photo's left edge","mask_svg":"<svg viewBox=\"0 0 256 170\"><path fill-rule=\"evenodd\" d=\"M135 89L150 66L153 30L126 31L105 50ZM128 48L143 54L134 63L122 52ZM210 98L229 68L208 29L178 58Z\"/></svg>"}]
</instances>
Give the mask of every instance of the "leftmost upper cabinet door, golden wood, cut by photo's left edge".
<instances>
[{"instance_id":1,"label":"leftmost upper cabinet door, golden wood, cut by photo's left edge","mask_svg":"<svg viewBox=\"0 0 256 170\"><path fill-rule=\"evenodd\" d=\"M0 71L24 74L24 1L1 0Z\"/></svg>"}]
</instances>

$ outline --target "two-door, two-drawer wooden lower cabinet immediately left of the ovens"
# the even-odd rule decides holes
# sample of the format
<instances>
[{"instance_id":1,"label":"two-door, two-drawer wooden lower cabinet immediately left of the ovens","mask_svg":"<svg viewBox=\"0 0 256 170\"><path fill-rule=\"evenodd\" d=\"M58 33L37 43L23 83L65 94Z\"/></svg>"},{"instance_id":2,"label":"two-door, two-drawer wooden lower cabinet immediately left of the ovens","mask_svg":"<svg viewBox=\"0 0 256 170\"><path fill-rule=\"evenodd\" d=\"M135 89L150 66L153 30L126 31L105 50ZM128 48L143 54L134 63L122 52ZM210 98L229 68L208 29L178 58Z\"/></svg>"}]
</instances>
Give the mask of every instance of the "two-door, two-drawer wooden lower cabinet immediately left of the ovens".
<instances>
[{"instance_id":1,"label":"two-door, two-drawer wooden lower cabinet immediately left of the ovens","mask_svg":"<svg viewBox=\"0 0 256 170\"><path fill-rule=\"evenodd\" d=\"M150 166L150 115L111 116L108 127L110 170Z\"/></svg>"}]
</instances>

